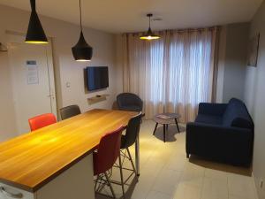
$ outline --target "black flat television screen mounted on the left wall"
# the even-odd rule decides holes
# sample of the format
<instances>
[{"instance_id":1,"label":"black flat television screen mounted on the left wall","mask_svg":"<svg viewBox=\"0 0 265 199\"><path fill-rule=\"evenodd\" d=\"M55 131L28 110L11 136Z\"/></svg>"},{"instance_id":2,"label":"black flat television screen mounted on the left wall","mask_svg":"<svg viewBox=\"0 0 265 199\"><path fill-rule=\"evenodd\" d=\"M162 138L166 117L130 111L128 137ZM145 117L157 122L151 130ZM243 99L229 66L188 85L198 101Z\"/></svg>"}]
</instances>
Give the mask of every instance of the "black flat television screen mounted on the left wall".
<instances>
[{"instance_id":1,"label":"black flat television screen mounted on the left wall","mask_svg":"<svg viewBox=\"0 0 265 199\"><path fill-rule=\"evenodd\" d=\"M108 87L109 87L108 66L87 67L88 91L108 88Z\"/></svg>"}]
</instances>

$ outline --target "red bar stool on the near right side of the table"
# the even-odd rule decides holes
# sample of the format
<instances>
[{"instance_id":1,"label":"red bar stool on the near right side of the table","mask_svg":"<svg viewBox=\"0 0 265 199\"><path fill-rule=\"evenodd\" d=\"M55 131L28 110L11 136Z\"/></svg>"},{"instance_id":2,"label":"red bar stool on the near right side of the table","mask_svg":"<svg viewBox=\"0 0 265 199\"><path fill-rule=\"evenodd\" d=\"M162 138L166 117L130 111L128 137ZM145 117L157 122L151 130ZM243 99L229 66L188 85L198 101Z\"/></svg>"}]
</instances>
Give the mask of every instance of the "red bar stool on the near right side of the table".
<instances>
[{"instance_id":1,"label":"red bar stool on the near right side of the table","mask_svg":"<svg viewBox=\"0 0 265 199\"><path fill-rule=\"evenodd\" d=\"M119 156L121 134L124 129L125 127L121 126L116 131L102 136L97 150L93 153L94 175L97 176L95 180L96 193L100 193L102 188L105 185L108 185L111 194L116 198L110 183L111 172L108 173L108 171L115 164L117 157Z\"/></svg>"}]
</instances>

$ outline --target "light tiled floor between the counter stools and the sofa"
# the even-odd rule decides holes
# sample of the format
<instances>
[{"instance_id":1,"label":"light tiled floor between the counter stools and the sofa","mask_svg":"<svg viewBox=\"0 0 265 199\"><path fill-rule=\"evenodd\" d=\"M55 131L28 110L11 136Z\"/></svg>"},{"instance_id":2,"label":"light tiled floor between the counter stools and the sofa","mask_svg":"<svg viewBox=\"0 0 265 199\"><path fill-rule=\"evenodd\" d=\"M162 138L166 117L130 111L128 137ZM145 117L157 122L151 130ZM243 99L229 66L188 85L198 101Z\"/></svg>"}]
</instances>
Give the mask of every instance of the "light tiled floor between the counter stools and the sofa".
<instances>
[{"instance_id":1,"label":"light tiled floor between the counter stools and the sofa","mask_svg":"<svg viewBox=\"0 0 265 199\"><path fill-rule=\"evenodd\" d=\"M188 160L184 126L181 126L181 134L177 134L176 126L170 126L166 143L162 141L162 127L153 136L154 127L152 120L142 123L140 178L138 183L133 183L133 180L131 186L126 187L126 198L257 199L253 178L247 176L251 173L249 170L200 158L192 157ZM131 152L134 155L134 148ZM125 164L128 165L127 162ZM113 170L112 178L118 180L119 172ZM117 196L120 196L121 188L114 186L114 189ZM110 194L108 188L103 191Z\"/></svg>"}]
</instances>

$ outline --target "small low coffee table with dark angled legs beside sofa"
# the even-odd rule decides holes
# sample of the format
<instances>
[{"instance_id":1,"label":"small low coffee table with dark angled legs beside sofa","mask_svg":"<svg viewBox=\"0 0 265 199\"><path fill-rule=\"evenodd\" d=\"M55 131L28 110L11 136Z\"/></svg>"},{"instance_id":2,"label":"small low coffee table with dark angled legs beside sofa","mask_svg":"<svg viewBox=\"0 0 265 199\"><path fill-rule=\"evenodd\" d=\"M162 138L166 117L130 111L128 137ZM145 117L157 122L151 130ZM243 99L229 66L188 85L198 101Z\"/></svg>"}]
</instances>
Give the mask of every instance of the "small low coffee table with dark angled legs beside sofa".
<instances>
[{"instance_id":1,"label":"small low coffee table with dark angled legs beside sofa","mask_svg":"<svg viewBox=\"0 0 265 199\"><path fill-rule=\"evenodd\" d=\"M170 124L175 123L178 128L178 133L179 133L178 119L180 117L181 116L178 113L170 113L170 112L155 115L154 120L156 124L155 124L155 130L153 132L153 135L155 135L155 131L156 131L158 124L163 125L163 142L165 142L165 133L168 130Z\"/></svg>"}]
</instances>

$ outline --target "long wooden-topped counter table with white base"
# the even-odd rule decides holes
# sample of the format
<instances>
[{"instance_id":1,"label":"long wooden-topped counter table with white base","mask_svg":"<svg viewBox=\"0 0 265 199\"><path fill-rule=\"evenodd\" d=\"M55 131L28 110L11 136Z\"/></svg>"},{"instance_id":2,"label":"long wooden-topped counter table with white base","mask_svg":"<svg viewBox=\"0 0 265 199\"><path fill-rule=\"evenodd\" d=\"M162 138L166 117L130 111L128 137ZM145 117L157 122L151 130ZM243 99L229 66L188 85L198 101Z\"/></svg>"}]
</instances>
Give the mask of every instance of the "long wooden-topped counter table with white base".
<instances>
[{"instance_id":1,"label":"long wooden-topped counter table with white base","mask_svg":"<svg viewBox=\"0 0 265 199\"><path fill-rule=\"evenodd\" d=\"M29 195L23 199L68 199L70 196L67 195L72 195L74 188L79 189L77 192L82 192L82 186L75 185L70 179L79 176L79 180L85 183L87 180L85 177L88 178L85 173L87 172L90 173L89 186L91 186L93 184L91 152L99 144L103 134L117 129L118 126L127 126L129 119L136 114L132 111L87 111L1 143L0 186L18 188L15 190L16 193ZM84 173L79 173L82 169ZM52 195L53 192L49 188L52 189L56 185L64 186L64 191L59 188L56 194ZM68 187L71 189L67 190ZM93 196L89 197L91 195L90 192L88 193L89 190L90 192L93 190ZM38 193L38 197L35 193ZM0 188L2 199L1 194L6 193ZM94 198L94 189L87 188L84 194L75 196L79 199Z\"/></svg>"}]
</instances>

